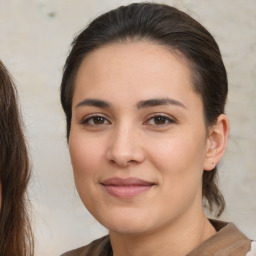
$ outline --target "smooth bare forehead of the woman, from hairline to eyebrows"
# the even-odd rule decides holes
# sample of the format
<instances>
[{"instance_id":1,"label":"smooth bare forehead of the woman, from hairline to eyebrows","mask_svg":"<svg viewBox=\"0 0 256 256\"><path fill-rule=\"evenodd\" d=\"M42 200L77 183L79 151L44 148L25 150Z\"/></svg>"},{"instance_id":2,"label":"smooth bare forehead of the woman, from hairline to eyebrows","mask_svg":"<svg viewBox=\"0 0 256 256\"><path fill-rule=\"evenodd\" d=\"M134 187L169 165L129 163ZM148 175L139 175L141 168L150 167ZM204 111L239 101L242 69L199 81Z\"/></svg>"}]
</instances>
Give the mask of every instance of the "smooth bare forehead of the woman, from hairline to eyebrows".
<instances>
[{"instance_id":1,"label":"smooth bare forehead of the woman, from hairline to eyebrows","mask_svg":"<svg viewBox=\"0 0 256 256\"><path fill-rule=\"evenodd\" d=\"M84 58L76 77L74 99L95 97L95 93L149 98L168 93L179 97L194 91L188 61L181 53L139 41L108 44Z\"/></svg>"}]
</instances>

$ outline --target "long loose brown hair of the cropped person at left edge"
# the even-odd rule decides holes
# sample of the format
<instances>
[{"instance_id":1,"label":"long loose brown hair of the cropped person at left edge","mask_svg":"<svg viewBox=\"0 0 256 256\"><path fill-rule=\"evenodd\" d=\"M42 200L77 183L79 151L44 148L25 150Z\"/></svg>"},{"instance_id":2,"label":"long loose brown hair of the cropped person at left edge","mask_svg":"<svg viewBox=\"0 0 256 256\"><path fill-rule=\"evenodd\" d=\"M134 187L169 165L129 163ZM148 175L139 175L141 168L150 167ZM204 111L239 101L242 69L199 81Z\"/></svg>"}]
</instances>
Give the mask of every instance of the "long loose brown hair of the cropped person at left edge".
<instances>
[{"instance_id":1,"label":"long loose brown hair of the cropped person at left edge","mask_svg":"<svg viewBox=\"0 0 256 256\"><path fill-rule=\"evenodd\" d=\"M31 256L33 236L26 189L29 159L16 101L16 89L0 61L0 254Z\"/></svg>"}]
</instances>

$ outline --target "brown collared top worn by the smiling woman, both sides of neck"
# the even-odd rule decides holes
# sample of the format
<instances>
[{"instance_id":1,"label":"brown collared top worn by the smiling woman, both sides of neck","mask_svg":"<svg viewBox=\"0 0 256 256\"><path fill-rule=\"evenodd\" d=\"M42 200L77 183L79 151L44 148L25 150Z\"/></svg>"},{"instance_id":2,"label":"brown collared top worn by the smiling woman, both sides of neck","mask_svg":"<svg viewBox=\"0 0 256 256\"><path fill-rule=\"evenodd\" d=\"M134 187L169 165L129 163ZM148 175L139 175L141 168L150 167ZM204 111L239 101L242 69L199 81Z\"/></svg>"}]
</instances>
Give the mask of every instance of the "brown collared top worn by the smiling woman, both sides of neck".
<instances>
[{"instance_id":1,"label":"brown collared top worn by the smiling woman, both sides of neck","mask_svg":"<svg viewBox=\"0 0 256 256\"><path fill-rule=\"evenodd\" d=\"M232 223L210 220L217 233L205 240L187 256L246 256L251 241ZM62 256L112 256L109 236L104 236Z\"/></svg>"}]
</instances>

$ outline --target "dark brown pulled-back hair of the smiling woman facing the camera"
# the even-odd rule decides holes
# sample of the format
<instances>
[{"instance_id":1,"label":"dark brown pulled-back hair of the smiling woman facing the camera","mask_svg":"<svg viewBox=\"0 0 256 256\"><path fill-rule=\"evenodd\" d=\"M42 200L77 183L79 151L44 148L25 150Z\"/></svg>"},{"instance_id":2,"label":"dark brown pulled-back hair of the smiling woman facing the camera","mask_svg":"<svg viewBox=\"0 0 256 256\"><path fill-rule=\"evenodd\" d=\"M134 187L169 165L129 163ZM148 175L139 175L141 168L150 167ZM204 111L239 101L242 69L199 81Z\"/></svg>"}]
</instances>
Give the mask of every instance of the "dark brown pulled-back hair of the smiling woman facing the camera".
<instances>
[{"instance_id":1,"label":"dark brown pulled-back hair of the smiling woman facing the camera","mask_svg":"<svg viewBox=\"0 0 256 256\"><path fill-rule=\"evenodd\" d=\"M90 52L110 43L148 41L181 53L188 60L193 89L202 98L206 126L224 113L228 92L226 69L212 35L186 13L164 4L133 3L111 10L85 28L73 41L61 82L61 103L69 139L72 98L77 71ZM206 206L220 216L225 200L217 186L217 168L204 171L202 193Z\"/></svg>"}]
</instances>

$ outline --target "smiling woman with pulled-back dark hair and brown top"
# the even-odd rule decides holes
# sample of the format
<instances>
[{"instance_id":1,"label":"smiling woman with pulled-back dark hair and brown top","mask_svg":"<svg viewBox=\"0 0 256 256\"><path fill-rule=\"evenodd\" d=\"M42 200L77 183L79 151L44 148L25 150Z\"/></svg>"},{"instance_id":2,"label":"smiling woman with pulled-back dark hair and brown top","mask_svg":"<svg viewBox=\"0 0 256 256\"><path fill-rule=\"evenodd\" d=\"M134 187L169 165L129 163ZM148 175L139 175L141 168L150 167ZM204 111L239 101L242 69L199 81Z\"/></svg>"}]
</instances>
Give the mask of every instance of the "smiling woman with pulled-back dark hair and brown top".
<instances>
[{"instance_id":1,"label":"smiling woman with pulled-back dark hair and brown top","mask_svg":"<svg viewBox=\"0 0 256 256\"><path fill-rule=\"evenodd\" d=\"M61 102L78 193L109 235L64 255L246 255L219 216L229 124L213 37L167 5L120 7L74 40Z\"/></svg>"}]
</instances>

